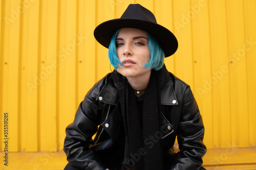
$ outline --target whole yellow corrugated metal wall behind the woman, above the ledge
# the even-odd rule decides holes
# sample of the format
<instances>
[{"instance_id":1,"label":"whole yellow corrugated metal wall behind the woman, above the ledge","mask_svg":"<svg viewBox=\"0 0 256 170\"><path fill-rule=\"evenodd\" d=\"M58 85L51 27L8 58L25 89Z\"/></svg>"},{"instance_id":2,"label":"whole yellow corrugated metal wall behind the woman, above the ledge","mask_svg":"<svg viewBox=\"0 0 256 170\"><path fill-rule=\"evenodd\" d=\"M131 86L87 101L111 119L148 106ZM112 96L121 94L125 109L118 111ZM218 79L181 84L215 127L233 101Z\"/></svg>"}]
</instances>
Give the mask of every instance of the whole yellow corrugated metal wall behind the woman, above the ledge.
<instances>
[{"instance_id":1,"label":"whole yellow corrugated metal wall behind the woman, above the ledge","mask_svg":"<svg viewBox=\"0 0 256 170\"><path fill-rule=\"evenodd\" d=\"M8 113L9 151L62 150L79 103L110 72L93 31L130 3L176 35L165 64L191 86L207 148L256 146L255 0L2 0L0 134Z\"/></svg>"}]
</instances>

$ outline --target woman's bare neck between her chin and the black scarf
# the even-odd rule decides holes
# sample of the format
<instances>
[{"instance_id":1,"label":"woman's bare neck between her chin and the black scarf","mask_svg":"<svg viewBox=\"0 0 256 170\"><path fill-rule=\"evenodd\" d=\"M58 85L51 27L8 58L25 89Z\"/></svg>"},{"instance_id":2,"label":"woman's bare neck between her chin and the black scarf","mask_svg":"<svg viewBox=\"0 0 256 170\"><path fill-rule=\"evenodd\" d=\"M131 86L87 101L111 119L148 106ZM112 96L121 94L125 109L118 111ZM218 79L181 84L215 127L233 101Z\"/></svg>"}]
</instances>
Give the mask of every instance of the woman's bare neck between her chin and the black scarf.
<instances>
[{"instance_id":1,"label":"woman's bare neck between her chin and the black scarf","mask_svg":"<svg viewBox=\"0 0 256 170\"><path fill-rule=\"evenodd\" d=\"M131 85L131 87L134 90L136 90L136 91L143 90L142 93L136 94L137 96L140 96L145 92L145 89L146 89L148 83L150 82L150 75L151 75L151 71L148 71L145 74L140 75L140 76L127 77L129 84Z\"/></svg>"}]
</instances>

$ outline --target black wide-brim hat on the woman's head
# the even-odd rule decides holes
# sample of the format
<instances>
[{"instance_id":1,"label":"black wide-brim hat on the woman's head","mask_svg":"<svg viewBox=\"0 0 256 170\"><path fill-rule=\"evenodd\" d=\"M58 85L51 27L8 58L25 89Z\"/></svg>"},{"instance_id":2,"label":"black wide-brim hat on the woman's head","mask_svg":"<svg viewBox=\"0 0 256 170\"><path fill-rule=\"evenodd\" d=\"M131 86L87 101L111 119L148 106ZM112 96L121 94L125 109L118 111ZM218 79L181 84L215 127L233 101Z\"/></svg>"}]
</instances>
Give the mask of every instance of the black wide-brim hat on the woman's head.
<instances>
[{"instance_id":1,"label":"black wide-brim hat on the woman's head","mask_svg":"<svg viewBox=\"0 0 256 170\"><path fill-rule=\"evenodd\" d=\"M94 30L94 37L101 45L109 48L113 34L121 28L136 28L151 34L157 39L165 57L177 51L178 41L174 34L159 25L154 14L139 4L130 4L120 18L98 25Z\"/></svg>"}]
</instances>

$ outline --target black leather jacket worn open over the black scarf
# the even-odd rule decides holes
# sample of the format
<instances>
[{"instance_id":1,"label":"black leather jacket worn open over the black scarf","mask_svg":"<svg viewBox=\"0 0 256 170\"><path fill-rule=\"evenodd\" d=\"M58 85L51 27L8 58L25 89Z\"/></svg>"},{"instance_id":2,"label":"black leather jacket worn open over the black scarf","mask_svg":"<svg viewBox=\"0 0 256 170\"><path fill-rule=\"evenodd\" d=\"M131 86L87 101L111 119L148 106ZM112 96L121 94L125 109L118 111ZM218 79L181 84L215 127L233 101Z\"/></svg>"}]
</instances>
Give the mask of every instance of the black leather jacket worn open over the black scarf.
<instances>
[{"instance_id":1,"label":"black leather jacket worn open over the black scarf","mask_svg":"<svg viewBox=\"0 0 256 170\"><path fill-rule=\"evenodd\" d=\"M120 133L119 107L118 89L108 74L87 93L74 122L66 129L64 151L72 166L107 168L100 152L112 148ZM206 153L202 117L190 87L171 73L169 83L161 90L160 117L161 127L165 127L161 136L165 169L199 169ZM177 154L172 152L176 136L180 150ZM147 142L154 144L153 139Z\"/></svg>"}]
</instances>

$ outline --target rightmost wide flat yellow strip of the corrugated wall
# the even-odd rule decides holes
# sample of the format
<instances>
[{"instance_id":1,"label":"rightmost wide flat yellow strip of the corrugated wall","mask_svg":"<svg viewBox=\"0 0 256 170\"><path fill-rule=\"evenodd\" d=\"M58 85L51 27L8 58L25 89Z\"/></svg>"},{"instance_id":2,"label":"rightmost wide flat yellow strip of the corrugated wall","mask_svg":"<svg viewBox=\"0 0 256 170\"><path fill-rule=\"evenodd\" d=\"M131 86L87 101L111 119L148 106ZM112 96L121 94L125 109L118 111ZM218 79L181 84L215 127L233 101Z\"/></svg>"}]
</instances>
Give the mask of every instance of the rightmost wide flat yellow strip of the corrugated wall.
<instances>
[{"instance_id":1,"label":"rightmost wide flat yellow strip of the corrugated wall","mask_svg":"<svg viewBox=\"0 0 256 170\"><path fill-rule=\"evenodd\" d=\"M243 1L227 1L228 55L230 63L231 140L233 146L248 147L248 91L246 56L243 51ZM236 18L236 19L234 19ZM246 113L246 114L244 114Z\"/></svg>"}]
</instances>

